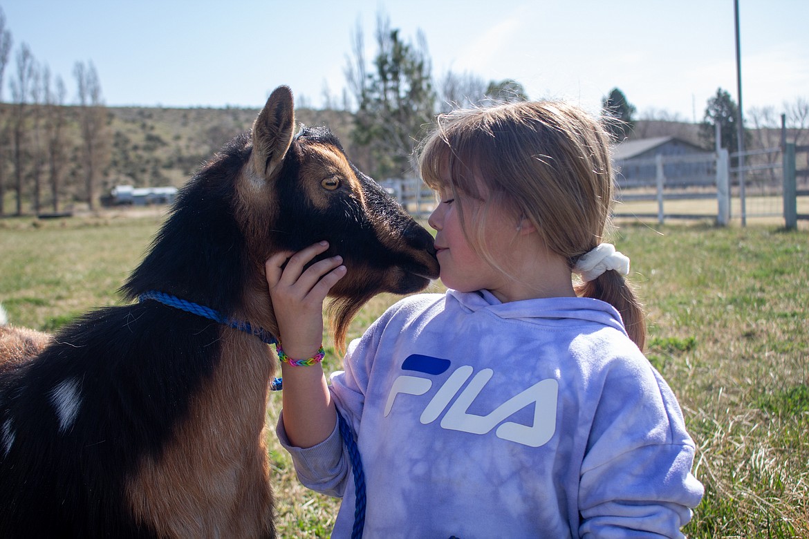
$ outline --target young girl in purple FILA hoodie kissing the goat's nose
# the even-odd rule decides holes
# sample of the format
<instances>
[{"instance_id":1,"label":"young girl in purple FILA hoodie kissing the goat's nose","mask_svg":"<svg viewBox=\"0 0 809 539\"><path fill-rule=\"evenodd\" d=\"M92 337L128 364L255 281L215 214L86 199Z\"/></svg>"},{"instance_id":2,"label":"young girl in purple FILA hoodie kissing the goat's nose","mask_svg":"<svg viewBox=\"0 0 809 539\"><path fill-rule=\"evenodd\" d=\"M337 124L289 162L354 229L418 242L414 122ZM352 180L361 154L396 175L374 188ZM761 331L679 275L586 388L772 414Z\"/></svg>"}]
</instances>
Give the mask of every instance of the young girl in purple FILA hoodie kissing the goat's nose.
<instances>
[{"instance_id":1,"label":"young girl in purple FILA hoodie kissing the goat's nose","mask_svg":"<svg viewBox=\"0 0 809 539\"><path fill-rule=\"evenodd\" d=\"M608 149L565 103L439 116L420 168L449 289L393 305L331 385L289 358L316 355L341 259L303 271L318 244L268 260L277 433L304 485L343 497L332 537L354 518L335 406L362 455L366 537L682 537L702 495L694 444L641 352L629 259L602 243Z\"/></svg>"}]
</instances>

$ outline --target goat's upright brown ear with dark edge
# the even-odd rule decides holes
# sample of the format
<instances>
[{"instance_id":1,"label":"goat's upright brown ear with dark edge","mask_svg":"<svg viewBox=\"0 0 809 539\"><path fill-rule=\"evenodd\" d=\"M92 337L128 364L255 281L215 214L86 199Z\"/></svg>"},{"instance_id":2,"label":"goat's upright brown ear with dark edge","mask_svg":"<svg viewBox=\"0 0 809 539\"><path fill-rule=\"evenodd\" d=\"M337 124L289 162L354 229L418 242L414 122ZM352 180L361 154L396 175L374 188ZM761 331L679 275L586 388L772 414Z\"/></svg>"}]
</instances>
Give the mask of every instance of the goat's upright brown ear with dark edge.
<instances>
[{"instance_id":1,"label":"goat's upright brown ear with dark edge","mask_svg":"<svg viewBox=\"0 0 809 539\"><path fill-rule=\"evenodd\" d=\"M292 91L278 86L267 99L252 128L252 161L256 172L271 178L283 162L294 137Z\"/></svg>"}]
</instances>

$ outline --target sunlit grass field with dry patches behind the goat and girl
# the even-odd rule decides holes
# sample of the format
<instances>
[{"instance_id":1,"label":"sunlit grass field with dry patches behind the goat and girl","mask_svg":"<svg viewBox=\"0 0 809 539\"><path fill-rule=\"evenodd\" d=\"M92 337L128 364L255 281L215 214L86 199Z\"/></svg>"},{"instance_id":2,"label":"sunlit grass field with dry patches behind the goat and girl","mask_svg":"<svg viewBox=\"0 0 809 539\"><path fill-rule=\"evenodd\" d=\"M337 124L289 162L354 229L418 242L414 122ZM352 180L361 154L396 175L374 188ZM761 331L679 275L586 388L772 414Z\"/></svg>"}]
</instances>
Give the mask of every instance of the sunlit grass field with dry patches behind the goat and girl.
<instances>
[{"instance_id":1,"label":"sunlit grass field with dry patches behind the goat and girl","mask_svg":"<svg viewBox=\"0 0 809 539\"><path fill-rule=\"evenodd\" d=\"M53 330L120 302L116 288L161 219L0 221L0 302L11 321ZM705 499L686 533L809 537L809 232L630 223L616 243L648 311L646 354L697 442ZM349 336L393 300L371 301ZM326 368L339 368L333 353ZM299 486L268 436L282 537L328 537L337 501Z\"/></svg>"}]
</instances>

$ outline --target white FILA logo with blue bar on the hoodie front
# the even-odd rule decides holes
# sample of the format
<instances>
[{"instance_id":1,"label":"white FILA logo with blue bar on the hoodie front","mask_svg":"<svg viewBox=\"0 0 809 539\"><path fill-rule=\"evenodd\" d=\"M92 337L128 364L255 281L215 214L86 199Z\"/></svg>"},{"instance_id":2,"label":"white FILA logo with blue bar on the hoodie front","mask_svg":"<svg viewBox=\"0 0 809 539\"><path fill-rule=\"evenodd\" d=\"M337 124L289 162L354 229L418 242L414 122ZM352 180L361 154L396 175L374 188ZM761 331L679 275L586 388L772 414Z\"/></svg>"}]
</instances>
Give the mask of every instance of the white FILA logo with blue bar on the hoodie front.
<instances>
[{"instance_id":1,"label":"white FILA logo with blue bar on the hoodie front","mask_svg":"<svg viewBox=\"0 0 809 539\"><path fill-rule=\"evenodd\" d=\"M449 360L413 354L404 360L402 370L436 376L446 373L450 365ZM473 374L474 376L472 376ZM439 424L447 430L486 434L497 427L495 435L503 440L535 448L547 444L556 430L559 383L553 378L538 381L527 390L523 390L503 402L488 415L469 414L469 406L472 406L475 398L485 390L485 385L491 380L493 374L494 371L491 368L484 368L478 373L474 373L474 369L470 365L456 368L427 403L421 413L421 423L425 425L433 423L446 411L447 413L444 414ZM467 381L469 383L464 387ZM408 374L397 377L388 394L385 417L391 413L398 395L423 395L432 386L433 381L426 377ZM455 399L454 402L453 399ZM517 411L531 405L534 406L534 423L530 427L511 421L504 422Z\"/></svg>"}]
</instances>

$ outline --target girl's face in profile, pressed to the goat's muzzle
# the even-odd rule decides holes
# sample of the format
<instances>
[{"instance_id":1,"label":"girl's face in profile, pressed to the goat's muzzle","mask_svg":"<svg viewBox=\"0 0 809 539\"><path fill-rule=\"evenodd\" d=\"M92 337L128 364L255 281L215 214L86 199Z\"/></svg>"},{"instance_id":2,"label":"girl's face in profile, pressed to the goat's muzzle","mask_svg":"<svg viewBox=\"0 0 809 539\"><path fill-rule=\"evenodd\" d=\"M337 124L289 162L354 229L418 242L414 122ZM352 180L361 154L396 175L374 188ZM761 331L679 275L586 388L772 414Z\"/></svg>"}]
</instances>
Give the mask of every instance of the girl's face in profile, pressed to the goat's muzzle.
<instances>
[{"instance_id":1,"label":"girl's face in profile, pressed to the goat's muzzle","mask_svg":"<svg viewBox=\"0 0 809 539\"><path fill-rule=\"evenodd\" d=\"M437 232L435 249L441 266L441 280L448 288L460 292L488 289L495 296L509 283L509 279L486 263L467 241L461 228L459 209L464 207L464 221L474 226L483 211L483 201L470 196L453 196L447 186L441 192L441 200L430 214L428 222ZM509 215L489 208L486 219L485 246L496 259L508 256L508 247L516 235L516 222ZM473 235L470 234L473 240Z\"/></svg>"}]
</instances>

